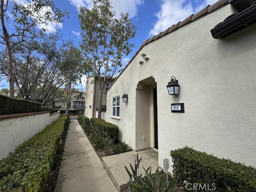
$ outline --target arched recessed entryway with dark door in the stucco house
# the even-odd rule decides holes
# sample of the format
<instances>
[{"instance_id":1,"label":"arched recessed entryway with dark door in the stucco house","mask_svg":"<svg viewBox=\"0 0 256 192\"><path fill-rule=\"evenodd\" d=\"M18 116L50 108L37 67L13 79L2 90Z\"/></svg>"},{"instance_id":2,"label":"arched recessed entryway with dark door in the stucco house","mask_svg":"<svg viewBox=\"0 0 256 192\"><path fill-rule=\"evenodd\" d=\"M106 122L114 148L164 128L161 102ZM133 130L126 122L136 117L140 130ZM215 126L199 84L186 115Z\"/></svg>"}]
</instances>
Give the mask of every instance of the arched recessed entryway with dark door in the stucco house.
<instances>
[{"instance_id":1,"label":"arched recessed entryway with dark door in the stucco house","mask_svg":"<svg viewBox=\"0 0 256 192\"><path fill-rule=\"evenodd\" d=\"M136 87L136 150L158 149L157 88L151 76Z\"/></svg>"}]
</instances>

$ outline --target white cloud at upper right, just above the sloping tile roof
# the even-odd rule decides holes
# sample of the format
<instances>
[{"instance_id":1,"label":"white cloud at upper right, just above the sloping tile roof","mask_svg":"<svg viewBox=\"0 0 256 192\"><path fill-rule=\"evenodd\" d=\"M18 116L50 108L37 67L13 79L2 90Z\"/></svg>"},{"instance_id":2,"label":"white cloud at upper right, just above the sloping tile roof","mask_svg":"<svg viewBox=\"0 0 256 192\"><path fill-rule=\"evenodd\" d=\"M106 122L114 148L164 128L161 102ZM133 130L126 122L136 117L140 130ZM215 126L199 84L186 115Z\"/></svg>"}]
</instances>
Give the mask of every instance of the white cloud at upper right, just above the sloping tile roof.
<instances>
[{"instance_id":1,"label":"white cloud at upper right, just above the sloping tile roof","mask_svg":"<svg viewBox=\"0 0 256 192\"><path fill-rule=\"evenodd\" d=\"M161 0L160 11L155 14L157 21L149 32L152 37L161 31L166 30L173 24L184 20L193 13L198 12L208 4L213 4L216 0L204 0L197 7L192 7L190 0Z\"/></svg>"}]
</instances>

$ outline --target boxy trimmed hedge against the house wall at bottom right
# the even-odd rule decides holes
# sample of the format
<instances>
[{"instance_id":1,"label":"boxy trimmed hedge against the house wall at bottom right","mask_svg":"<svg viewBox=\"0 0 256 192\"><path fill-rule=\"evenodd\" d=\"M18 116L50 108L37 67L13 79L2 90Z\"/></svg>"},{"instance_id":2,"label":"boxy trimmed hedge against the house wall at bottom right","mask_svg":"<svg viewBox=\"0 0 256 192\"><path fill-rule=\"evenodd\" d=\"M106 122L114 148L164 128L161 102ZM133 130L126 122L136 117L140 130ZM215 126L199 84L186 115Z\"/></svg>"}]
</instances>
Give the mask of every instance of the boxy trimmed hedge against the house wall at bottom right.
<instances>
[{"instance_id":1,"label":"boxy trimmed hedge against the house wall at bottom right","mask_svg":"<svg viewBox=\"0 0 256 192\"><path fill-rule=\"evenodd\" d=\"M180 182L215 183L219 192L256 192L256 169L184 147L170 152ZM185 189L185 188L184 188Z\"/></svg>"}]
</instances>

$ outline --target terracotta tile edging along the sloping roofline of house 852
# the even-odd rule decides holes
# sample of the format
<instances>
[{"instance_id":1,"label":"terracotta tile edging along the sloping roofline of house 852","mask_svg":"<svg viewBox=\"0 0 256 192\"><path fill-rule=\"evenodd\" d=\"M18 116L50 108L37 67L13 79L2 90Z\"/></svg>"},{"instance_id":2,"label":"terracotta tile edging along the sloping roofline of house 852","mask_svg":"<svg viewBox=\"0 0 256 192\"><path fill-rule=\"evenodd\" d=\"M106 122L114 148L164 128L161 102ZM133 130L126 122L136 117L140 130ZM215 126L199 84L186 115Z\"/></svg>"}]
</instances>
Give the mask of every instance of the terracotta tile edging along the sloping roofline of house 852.
<instances>
[{"instance_id":1,"label":"terracotta tile edging along the sloping roofline of house 852","mask_svg":"<svg viewBox=\"0 0 256 192\"><path fill-rule=\"evenodd\" d=\"M128 64L122 69L122 71L120 72L120 74L117 76L117 78L115 79L115 81L113 82L113 84L116 82L116 80L118 79L118 77L122 74L122 72L124 72L124 70L127 68L127 66L132 62L132 60L136 57L136 55L140 52L140 50L142 50L142 48L153 42L154 40L157 40L159 38L161 38L162 36L165 36L171 32L173 32L174 30L177 30L178 28L198 19L201 18L202 16L205 16L206 14L226 5L226 4L230 4L231 2L233 2L234 0L218 0L217 2L215 2L212 5L208 5L205 8L203 8L202 10L200 10L199 12L197 12L196 14L192 14L190 16L188 16L186 19L184 19L183 21L180 21L174 25L172 25L171 27L169 27L168 29L164 30L163 32L160 32L159 34L153 36L150 39L145 40L142 45L140 46L140 48L136 51L136 53L134 54L134 56L132 56L132 59L128 62ZM112 85L113 85L112 84ZM112 86L111 85L111 86ZM110 86L110 88L111 88ZM109 90L109 89L108 89Z\"/></svg>"}]
</instances>

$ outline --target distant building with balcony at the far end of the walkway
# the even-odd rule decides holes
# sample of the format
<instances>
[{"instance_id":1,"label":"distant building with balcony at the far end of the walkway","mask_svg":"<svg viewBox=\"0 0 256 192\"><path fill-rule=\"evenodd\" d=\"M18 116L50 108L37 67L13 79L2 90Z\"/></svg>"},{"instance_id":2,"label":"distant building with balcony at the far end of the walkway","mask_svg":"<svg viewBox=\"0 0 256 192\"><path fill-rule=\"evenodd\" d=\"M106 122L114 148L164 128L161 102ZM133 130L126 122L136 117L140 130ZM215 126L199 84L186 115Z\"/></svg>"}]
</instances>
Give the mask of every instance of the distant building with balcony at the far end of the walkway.
<instances>
[{"instance_id":1,"label":"distant building with balcony at the far end of the walkway","mask_svg":"<svg viewBox=\"0 0 256 192\"><path fill-rule=\"evenodd\" d=\"M72 100L70 101L69 113L77 113L78 111L82 112L85 108L85 95L86 92L74 92L72 94ZM66 111L66 102L54 100L51 103L51 106L54 110L60 110L61 114Z\"/></svg>"}]
</instances>

